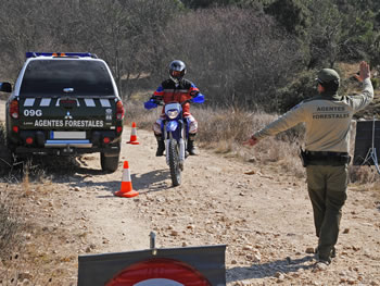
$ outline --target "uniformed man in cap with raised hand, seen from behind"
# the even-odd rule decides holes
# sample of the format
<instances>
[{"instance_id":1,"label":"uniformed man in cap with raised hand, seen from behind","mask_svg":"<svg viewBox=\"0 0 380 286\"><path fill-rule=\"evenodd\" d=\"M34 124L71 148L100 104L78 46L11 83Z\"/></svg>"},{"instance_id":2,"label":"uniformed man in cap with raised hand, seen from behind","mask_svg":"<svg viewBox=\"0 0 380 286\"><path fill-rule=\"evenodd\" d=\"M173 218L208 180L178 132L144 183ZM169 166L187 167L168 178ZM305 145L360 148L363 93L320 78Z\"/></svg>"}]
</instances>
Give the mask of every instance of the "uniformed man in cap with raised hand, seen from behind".
<instances>
[{"instance_id":1,"label":"uniformed man in cap with raised hand, seen from behind","mask_svg":"<svg viewBox=\"0 0 380 286\"><path fill-rule=\"evenodd\" d=\"M330 264L335 256L342 207L346 200L350 163L350 127L355 112L373 99L370 70L359 64L355 75L363 83L363 91L355 96L340 96L339 74L331 69L318 73L318 96L304 100L292 110L254 133L244 145L254 146L268 136L305 123L305 159L307 188L313 206L315 229L318 237L318 261Z\"/></svg>"}]
</instances>

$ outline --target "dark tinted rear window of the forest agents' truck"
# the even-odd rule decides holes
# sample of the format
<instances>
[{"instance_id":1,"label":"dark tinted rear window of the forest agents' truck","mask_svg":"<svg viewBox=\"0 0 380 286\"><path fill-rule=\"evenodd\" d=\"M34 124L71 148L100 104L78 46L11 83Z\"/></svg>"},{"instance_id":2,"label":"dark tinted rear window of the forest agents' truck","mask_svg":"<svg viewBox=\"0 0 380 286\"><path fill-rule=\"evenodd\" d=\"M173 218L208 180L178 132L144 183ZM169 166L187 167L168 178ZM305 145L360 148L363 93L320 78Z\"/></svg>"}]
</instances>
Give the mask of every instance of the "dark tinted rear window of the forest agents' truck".
<instances>
[{"instance_id":1,"label":"dark tinted rear window of the forest agents' truck","mask_svg":"<svg viewBox=\"0 0 380 286\"><path fill-rule=\"evenodd\" d=\"M111 75L103 62L85 60L31 61L25 70L20 97L113 96Z\"/></svg>"}]
</instances>

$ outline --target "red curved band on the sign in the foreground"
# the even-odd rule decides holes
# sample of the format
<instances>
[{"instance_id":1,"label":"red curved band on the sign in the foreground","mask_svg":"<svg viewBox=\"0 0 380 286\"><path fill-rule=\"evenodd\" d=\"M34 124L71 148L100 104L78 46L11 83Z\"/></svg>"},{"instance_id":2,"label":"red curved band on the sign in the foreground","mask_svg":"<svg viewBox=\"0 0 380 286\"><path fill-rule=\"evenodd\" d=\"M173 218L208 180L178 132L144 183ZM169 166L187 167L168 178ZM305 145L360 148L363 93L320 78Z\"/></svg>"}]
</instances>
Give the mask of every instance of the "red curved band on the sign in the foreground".
<instances>
[{"instance_id":1,"label":"red curved band on the sign in the foreground","mask_svg":"<svg viewBox=\"0 0 380 286\"><path fill-rule=\"evenodd\" d=\"M168 279L185 286L212 286L192 266L177 260L163 258L132 264L113 277L106 286L134 286L137 283L154 278Z\"/></svg>"}]
</instances>

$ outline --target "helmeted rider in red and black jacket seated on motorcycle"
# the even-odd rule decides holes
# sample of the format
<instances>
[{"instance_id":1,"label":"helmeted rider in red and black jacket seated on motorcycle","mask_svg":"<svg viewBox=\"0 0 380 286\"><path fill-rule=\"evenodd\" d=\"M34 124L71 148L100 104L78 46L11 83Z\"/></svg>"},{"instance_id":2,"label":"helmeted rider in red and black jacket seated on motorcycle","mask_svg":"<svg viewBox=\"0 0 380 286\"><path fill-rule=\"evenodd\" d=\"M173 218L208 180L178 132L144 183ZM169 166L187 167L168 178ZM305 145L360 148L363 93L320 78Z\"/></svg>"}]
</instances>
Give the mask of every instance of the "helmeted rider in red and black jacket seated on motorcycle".
<instances>
[{"instance_id":1,"label":"helmeted rider in red and black jacket seated on motorcycle","mask_svg":"<svg viewBox=\"0 0 380 286\"><path fill-rule=\"evenodd\" d=\"M164 103L178 102L182 103L189 100L200 92L198 87L190 80L183 78L186 74L186 65L182 61L175 60L169 64L169 78L164 80L159 88L154 91L151 99L164 101ZM187 151L189 154L198 154L194 146L194 137L198 132L198 122L190 114L190 103L187 102L182 105L183 117L189 124L189 138ZM162 136L161 124L165 119L164 109L160 119L153 124L154 136L157 140L156 157L163 156L165 151L165 142Z\"/></svg>"}]
</instances>

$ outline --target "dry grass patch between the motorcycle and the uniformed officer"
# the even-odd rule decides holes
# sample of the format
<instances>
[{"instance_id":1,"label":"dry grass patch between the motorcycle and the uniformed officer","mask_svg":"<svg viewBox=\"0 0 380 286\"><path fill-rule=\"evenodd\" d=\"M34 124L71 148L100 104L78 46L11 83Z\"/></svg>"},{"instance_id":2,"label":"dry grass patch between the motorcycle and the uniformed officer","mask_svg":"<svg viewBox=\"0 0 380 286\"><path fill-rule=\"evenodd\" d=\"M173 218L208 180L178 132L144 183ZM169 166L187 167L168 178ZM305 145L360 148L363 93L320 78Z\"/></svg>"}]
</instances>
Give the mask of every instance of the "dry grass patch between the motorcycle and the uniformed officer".
<instances>
[{"instance_id":1,"label":"dry grass patch between the motorcycle and the uniformed officer","mask_svg":"<svg viewBox=\"0 0 380 286\"><path fill-rule=\"evenodd\" d=\"M199 140L203 148L213 148L219 153L232 153L237 158L257 165L271 164L277 172L287 172L296 177L304 175L304 169L297 156L303 136L302 132L299 133L300 128L276 138L265 139L254 148L242 145L254 130L261 129L277 115L236 109L195 110L193 114L200 122ZM295 142L294 138L290 140L294 136Z\"/></svg>"}]
</instances>

